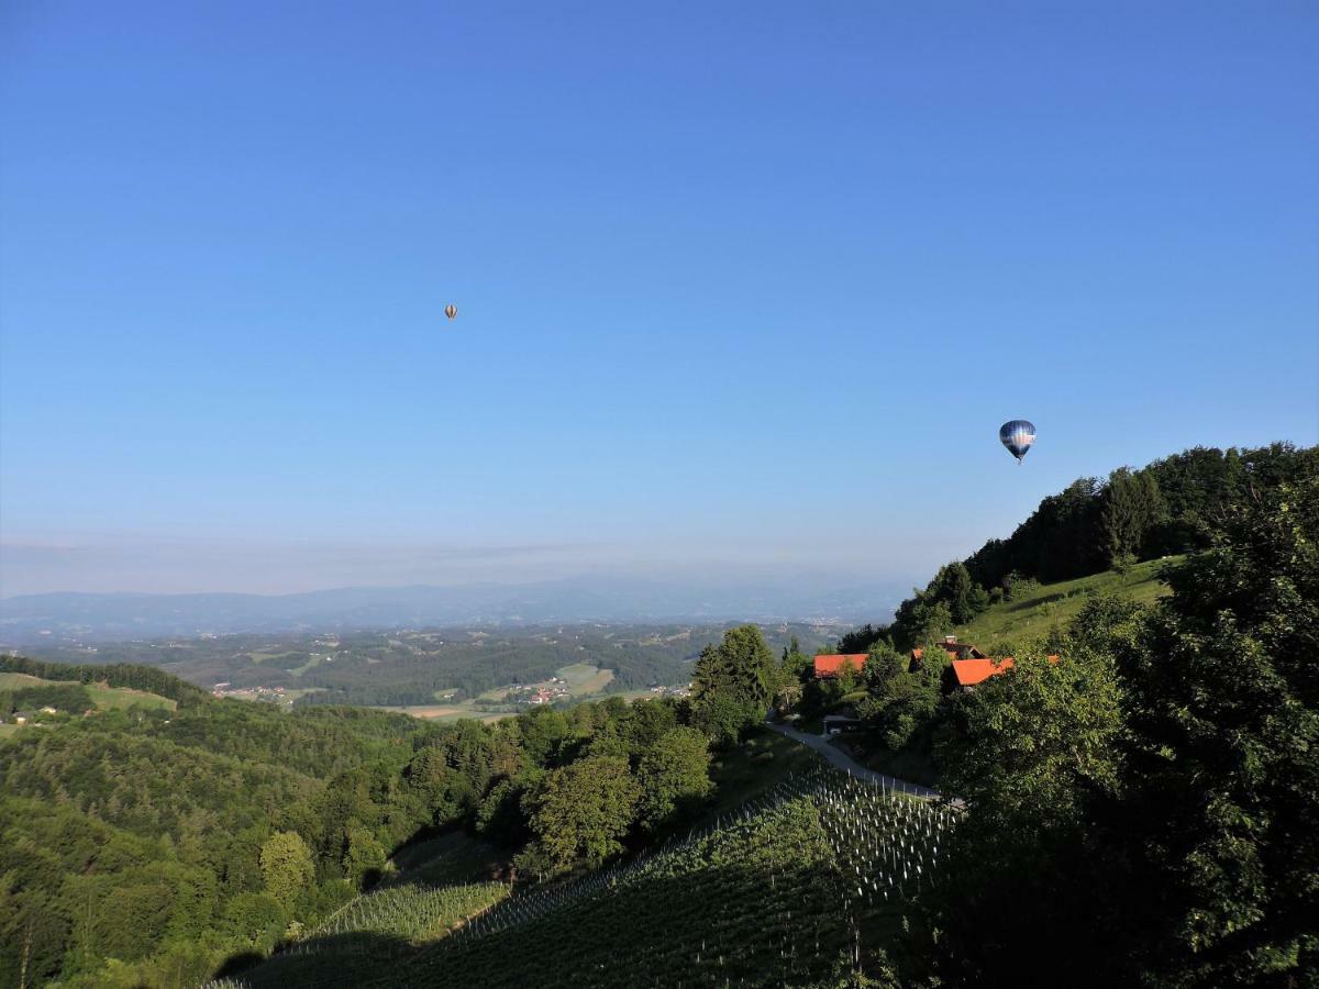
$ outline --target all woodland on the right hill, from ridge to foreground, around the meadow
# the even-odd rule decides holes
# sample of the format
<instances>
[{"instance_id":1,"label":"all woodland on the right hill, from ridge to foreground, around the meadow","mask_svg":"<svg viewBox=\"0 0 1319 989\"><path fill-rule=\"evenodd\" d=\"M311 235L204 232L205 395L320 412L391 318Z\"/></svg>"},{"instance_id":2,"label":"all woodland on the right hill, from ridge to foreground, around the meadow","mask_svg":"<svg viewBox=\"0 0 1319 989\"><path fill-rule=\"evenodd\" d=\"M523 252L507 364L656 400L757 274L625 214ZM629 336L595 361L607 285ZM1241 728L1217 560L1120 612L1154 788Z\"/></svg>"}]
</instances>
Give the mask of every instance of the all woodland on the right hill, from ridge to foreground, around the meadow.
<instances>
[{"instance_id":1,"label":"all woodland on the right hill, from ridge to foreground, around the meadow","mask_svg":"<svg viewBox=\"0 0 1319 989\"><path fill-rule=\"evenodd\" d=\"M987 550L1026 566L1075 541L1096 568L1179 553L1157 601L1095 595L963 690L940 644L989 607L967 580L985 572L981 550L892 626L844 636L839 651L867 653L859 671L820 680L807 655L783 657L795 676L781 709L849 711L872 765L922 766L922 782L964 800L917 924L938 932L921 957L939 984L1046 986L1059 972L1093 986L1315 984L1319 450L1196 450L1148 471L1072 485ZM1125 527L1112 488L1132 479L1150 509L1121 513L1144 520Z\"/></svg>"}]
</instances>

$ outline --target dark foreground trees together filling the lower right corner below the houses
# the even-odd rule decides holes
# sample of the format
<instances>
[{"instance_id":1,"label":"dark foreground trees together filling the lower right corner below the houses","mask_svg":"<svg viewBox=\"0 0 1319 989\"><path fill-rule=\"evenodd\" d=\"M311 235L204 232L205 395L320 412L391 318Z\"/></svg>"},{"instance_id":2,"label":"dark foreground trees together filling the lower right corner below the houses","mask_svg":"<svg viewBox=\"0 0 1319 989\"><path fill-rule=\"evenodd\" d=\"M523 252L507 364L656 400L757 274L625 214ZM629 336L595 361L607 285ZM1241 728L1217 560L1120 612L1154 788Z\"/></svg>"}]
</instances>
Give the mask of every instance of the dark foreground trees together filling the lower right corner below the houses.
<instances>
[{"instance_id":1,"label":"dark foreground trees together filling the lower right corner below the houses","mask_svg":"<svg viewBox=\"0 0 1319 989\"><path fill-rule=\"evenodd\" d=\"M1167 570L1171 597L1096 600L1059 663L1018 655L958 698L942 765L968 811L934 920L950 981L1319 968L1319 471L1250 488Z\"/></svg>"}]
</instances>

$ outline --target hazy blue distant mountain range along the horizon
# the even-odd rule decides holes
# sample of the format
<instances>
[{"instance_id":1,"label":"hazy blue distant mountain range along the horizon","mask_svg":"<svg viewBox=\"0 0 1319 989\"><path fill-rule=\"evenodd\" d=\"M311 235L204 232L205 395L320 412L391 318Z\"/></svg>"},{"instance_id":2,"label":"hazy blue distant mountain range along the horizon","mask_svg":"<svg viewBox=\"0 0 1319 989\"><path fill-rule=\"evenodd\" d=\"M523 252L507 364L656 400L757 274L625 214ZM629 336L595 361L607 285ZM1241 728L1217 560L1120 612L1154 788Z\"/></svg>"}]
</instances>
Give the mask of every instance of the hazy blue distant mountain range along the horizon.
<instances>
[{"instance_id":1,"label":"hazy blue distant mountain range along the horizon","mask_svg":"<svg viewBox=\"0 0 1319 989\"><path fill-rule=\"evenodd\" d=\"M346 587L293 595L44 593L0 600L0 646L161 636L554 621L885 621L892 584L803 593L790 584L574 578L537 584Z\"/></svg>"}]
</instances>

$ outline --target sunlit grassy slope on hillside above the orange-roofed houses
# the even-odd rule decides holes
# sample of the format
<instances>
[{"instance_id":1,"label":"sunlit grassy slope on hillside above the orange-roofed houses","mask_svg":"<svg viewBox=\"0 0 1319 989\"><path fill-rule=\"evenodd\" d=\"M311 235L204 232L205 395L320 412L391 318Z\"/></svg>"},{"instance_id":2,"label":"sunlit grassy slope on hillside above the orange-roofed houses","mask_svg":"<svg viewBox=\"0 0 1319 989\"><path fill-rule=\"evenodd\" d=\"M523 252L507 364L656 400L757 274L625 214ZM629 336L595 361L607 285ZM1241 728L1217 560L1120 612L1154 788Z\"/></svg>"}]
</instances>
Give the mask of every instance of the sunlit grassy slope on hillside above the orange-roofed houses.
<instances>
[{"instance_id":1,"label":"sunlit grassy slope on hillside above the orange-roofed houses","mask_svg":"<svg viewBox=\"0 0 1319 989\"><path fill-rule=\"evenodd\" d=\"M996 604L956 629L958 638L985 651L1002 651L1005 645L1047 636L1066 629L1086 601L1097 593L1116 593L1142 604L1167 593L1158 572L1181 556L1137 563L1126 574L1108 571L1093 576L1037 584L1017 593L1012 601Z\"/></svg>"}]
</instances>

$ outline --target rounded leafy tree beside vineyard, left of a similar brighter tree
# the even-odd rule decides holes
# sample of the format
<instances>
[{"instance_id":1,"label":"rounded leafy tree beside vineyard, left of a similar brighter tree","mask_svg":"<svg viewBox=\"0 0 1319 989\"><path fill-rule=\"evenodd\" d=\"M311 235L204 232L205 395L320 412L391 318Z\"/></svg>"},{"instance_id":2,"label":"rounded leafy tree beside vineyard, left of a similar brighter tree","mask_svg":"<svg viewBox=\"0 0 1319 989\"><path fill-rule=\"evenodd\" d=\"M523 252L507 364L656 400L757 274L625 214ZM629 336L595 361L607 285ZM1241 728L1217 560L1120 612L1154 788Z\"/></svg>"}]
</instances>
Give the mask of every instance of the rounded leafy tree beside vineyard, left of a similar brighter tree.
<instances>
[{"instance_id":1,"label":"rounded leafy tree beside vineyard, left of a similar brighter tree","mask_svg":"<svg viewBox=\"0 0 1319 989\"><path fill-rule=\"evenodd\" d=\"M562 869L621 852L640 798L627 760L596 757L546 773L525 810L537 849Z\"/></svg>"}]
</instances>

